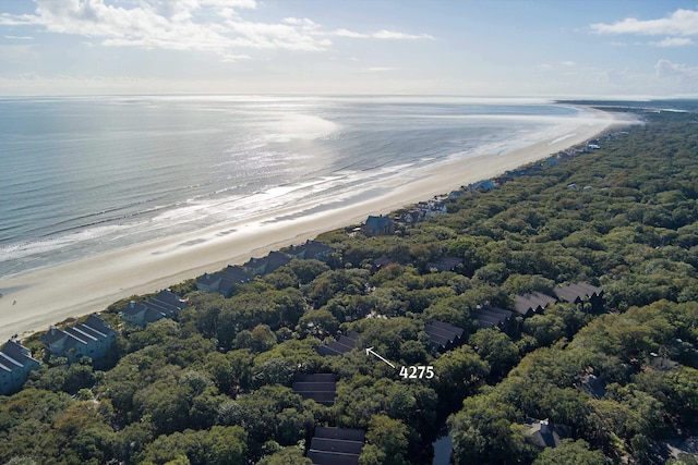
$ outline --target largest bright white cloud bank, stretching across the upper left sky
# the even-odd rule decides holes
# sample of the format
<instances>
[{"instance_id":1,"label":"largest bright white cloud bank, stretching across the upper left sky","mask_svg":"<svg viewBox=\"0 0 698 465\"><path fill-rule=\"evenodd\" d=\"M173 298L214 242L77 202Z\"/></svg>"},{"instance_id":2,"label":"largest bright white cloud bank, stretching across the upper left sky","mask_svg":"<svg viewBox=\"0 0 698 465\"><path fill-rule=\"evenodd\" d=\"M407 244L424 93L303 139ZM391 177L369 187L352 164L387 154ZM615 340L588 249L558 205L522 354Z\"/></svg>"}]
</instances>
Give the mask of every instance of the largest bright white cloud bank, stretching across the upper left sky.
<instances>
[{"instance_id":1,"label":"largest bright white cloud bank, stretching across the upper left sky","mask_svg":"<svg viewBox=\"0 0 698 465\"><path fill-rule=\"evenodd\" d=\"M257 8L254 0L34 0L35 14L0 15L0 25L39 26L55 34L99 40L108 47L198 50L236 61L239 49L324 51L330 36L375 39L433 38L426 34L380 30L360 34L340 28L323 30L306 17L278 23L246 21L240 10ZM128 5L128 7L127 7Z\"/></svg>"}]
</instances>

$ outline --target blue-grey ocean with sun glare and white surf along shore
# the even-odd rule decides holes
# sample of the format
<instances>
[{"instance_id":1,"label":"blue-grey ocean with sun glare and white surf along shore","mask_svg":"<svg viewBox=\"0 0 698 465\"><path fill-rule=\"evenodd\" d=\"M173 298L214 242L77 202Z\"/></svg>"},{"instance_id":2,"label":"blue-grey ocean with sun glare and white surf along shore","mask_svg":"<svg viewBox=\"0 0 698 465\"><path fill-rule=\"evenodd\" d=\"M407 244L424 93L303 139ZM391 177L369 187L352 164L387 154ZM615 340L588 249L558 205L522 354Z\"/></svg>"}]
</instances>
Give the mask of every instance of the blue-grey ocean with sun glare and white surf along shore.
<instances>
[{"instance_id":1,"label":"blue-grey ocean with sun glare and white surf along shore","mask_svg":"<svg viewBox=\"0 0 698 465\"><path fill-rule=\"evenodd\" d=\"M0 98L0 277L358 200L434 163L564 137L580 118L456 97Z\"/></svg>"}]
</instances>

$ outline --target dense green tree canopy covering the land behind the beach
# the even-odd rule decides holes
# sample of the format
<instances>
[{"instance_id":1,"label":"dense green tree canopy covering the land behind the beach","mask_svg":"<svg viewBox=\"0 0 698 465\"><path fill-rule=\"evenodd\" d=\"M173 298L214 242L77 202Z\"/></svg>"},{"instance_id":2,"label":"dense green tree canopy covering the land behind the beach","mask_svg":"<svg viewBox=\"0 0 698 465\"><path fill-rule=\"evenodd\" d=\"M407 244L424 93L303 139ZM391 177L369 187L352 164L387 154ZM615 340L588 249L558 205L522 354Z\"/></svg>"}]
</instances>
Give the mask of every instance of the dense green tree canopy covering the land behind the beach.
<instances>
[{"instance_id":1,"label":"dense green tree canopy covering the land behind the beach","mask_svg":"<svg viewBox=\"0 0 698 465\"><path fill-rule=\"evenodd\" d=\"M309 464L325 425L366 431L363 465L422 464L446 425L461 465L664 463L698 426L698 114L640 114L601 149L396 234L322 234L327 262L293 260L230 297L173 286L189 303L176 320L122 326L105 359L68 364L25 340L45 363L0 396L0 462ZM462 267L429 267L444 256ZM507 331L472 316L578 281L603 289L601 313L557 303ZM103 313L112 328L127 304ZM440 353L432 320L467 343ZM351 332L358 350L317 353ZM434 377L400 378L362 347ZM299 374L336 374L334 404L294 393ZM539 448L532 420L568 438Z\"/></svg>"}]
</instances>

